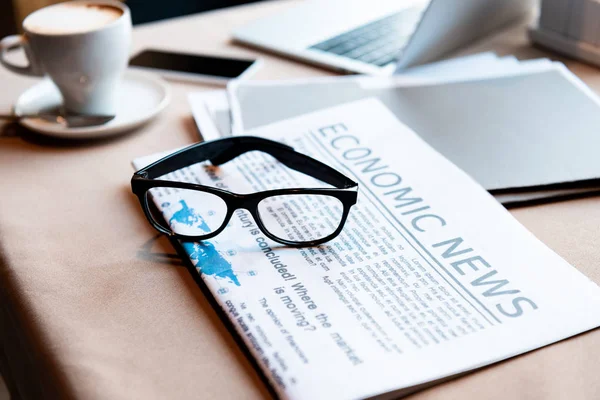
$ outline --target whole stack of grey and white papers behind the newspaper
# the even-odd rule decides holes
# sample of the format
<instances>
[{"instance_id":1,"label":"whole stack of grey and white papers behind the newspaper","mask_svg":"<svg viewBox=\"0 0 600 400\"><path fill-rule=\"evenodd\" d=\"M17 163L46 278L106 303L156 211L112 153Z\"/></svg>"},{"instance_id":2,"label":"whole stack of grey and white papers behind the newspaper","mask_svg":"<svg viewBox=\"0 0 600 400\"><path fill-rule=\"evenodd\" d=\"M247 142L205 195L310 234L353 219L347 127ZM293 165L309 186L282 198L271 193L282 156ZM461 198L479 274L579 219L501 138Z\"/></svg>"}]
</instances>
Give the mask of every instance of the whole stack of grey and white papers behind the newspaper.
<instances>
[{"instance_id":1,"label":"whole stack of grey and white papers behind the newspaper","mask_svg":"<svg viewBox=\"0 0 600 400\"><path fill-rule=\"evenodd\" d=\"M505 205L600 190L600 101L546 59L485 53L394 77L234 82L228 94L195 93L190 101L204 138L213 139L369 97Z\"/></svg>"}]
</instances>

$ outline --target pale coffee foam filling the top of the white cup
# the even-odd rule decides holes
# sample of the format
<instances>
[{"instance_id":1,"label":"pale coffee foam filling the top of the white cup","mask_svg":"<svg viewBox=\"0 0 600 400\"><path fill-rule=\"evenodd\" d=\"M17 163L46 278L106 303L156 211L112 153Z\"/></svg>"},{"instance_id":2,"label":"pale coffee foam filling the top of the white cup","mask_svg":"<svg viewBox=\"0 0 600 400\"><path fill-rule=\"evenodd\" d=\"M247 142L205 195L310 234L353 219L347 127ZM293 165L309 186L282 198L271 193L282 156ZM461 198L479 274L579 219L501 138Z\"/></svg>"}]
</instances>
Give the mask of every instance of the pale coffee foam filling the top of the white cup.
<instances>
[{"instance_id":1,"label":"pale coffee foam filling the top of the white cup","mask_svg":"<svg viewBox=\"0 0 600 400\"><path fill-rule=\"evenodd\" d=\"M123 11L103 4L61 3L29 15L23 26L30 32L64 35L90 32L119 19Z\"/></svg>"}]
</instances>

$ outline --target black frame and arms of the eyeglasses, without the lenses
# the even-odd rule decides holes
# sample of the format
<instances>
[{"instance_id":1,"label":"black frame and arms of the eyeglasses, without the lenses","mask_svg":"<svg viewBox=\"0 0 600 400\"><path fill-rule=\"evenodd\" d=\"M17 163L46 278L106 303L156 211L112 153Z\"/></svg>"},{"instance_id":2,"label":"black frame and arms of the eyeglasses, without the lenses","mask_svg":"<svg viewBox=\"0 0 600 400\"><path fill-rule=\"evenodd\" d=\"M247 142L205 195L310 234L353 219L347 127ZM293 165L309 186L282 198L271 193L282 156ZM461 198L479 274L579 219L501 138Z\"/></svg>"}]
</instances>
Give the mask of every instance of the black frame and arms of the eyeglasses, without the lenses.
<instances>
[{"instance_id":1,"label":"black frame and arms of the eyeglasses, without the lenses","mask_svg":"<svg viewBox=\"0 0 600 400\"><path fill-rule=\"evenodd\" d=\"M222 165L249 151L262 151L268 153L287 167L328 183L334 186L334 188L290 188L238 194L213 186L154 179L155 177L163 176L169 172L202 161L208 160L215 166ZM227 206L227 212L221 226L204 235L184 235L166 228L156 221L150 211L150 207L154 205L148 203L148 196L146 193L148 190L155 187L196 190L218 196ZM210 142L200 142L186 147L185 149L172 153L135 172L131 178L131 189L138 197L140 205L150 224L156 230L166 235L192 241L213 238L223 232L231 220L233 213L237 209L242 208L250 212L258 228L265 236L273 241L291 247L317 246L335 238L344 228L348 214L350 213L350 208L356 204L358 197L358 183L346 177L336 169L315 160L310 156L295 151L291 146L255 136L235 136ZM342 203L344 210L337 229L328 236L306 242L290 241L272 234L265 227L260 218L258 204L268 197L282 195L326 195L338 199Z\"/></svg>"}]
</instances>

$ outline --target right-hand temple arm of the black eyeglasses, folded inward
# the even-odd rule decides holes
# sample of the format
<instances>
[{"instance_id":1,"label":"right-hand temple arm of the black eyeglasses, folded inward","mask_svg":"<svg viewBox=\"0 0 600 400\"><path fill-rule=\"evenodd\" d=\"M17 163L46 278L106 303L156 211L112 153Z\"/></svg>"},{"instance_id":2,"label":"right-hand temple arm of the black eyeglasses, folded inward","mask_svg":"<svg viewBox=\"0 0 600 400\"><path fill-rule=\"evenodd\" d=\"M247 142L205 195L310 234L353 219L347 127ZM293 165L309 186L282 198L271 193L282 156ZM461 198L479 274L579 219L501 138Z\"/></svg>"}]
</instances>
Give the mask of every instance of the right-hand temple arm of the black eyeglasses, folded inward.
<instances>
[{"instance_id":1,"label":"right-hand temple arm of the black eyeglasses, folded inward","mask_svg":"<svg viewBox=\"0 0 600 400\"><path fill-rule=\"evenodd\" d=\"M310 175L340 189L356 186L356 182L347 178L334 168L323 164L305 154L298 153L293 147L283 143L254 136L238 136L243 146L228 146L218 155L210 158L213 165L222 165L249 151L262 151L270 154L279 162L303 174Z\"/></svg>"}]
</instances>

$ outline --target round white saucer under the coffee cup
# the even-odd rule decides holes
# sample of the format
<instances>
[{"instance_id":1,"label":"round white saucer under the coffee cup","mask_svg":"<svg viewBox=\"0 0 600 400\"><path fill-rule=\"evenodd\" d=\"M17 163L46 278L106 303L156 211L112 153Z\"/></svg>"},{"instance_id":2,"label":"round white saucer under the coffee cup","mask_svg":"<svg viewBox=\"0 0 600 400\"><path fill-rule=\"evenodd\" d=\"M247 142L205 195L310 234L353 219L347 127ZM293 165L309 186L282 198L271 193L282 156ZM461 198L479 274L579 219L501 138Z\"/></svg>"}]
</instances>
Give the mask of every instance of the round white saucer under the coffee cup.
<instances>
[{"instance_id":1,"label":"round white saucer under the coffee cup","mask_svg":"<svg viewBox=\"0 0 600 400\"><path fill-rule=\"evenodd\" d=\"M117 115L112 121L98 126L69 128L40 118L27 118L19 123L44 135L69 139L90 139L116 135L133 129L156 116L169 101L171 94L166 82L147 72L128 70L119 85ZM49 79L27 89L14 106L16 114L37 113L60 107L62 97Z\"/></svg>"}]
</instances>

